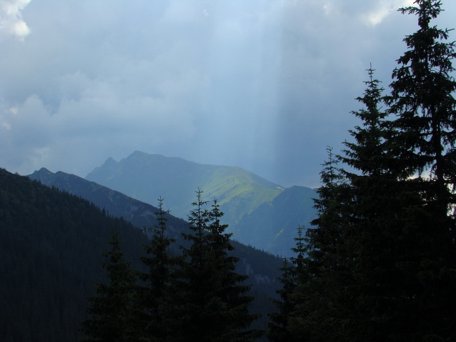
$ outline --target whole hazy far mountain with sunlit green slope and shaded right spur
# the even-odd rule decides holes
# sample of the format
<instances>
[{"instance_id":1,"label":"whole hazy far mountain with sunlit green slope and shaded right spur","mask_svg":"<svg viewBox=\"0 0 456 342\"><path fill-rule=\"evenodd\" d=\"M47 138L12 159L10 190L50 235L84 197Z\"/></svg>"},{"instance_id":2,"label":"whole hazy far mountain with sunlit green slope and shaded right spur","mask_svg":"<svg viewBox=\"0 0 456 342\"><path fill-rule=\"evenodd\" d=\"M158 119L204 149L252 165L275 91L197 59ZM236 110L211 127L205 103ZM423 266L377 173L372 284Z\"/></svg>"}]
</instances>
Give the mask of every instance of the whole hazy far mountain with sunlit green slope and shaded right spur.
<instances>
[{"instance_id":1,"label":"whole hazy far mountain with sunlit green slope and shaded right spur","mask_svg":"<svg viewBox=\"0 0 456 342\"><path fill-rule=\"evenodd\" d=\"M187 217L200 188L203 199L217 198L234 239L276 255L290 256L297 226L307 225L316 215L313 189L284 189L239 167L203 165L140 151L120 162L108 158L86 179L150 204L162 197L165 207L181 218Z\"/></svg>"}]
</instances>

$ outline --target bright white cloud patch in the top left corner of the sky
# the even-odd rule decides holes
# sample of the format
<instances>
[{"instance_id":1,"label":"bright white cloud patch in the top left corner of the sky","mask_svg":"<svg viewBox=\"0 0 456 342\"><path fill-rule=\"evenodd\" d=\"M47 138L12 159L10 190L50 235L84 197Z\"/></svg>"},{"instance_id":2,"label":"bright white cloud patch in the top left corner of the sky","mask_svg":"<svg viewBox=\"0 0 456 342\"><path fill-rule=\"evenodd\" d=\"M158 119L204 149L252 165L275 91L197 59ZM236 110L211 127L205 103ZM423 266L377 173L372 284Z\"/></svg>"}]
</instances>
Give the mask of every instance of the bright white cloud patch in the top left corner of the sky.
<instances>
[{"instance_id":1,"label":"bright white cloud patch in the top left corner of the sky","mask_svg":"<svg viewBox=\"0 0 456 342\"><path fill-rule=\"evenodd\" d=\"M0 31L16 36L23 41L30 33L27 24L22 20L22 10L31 0L0 1Z\"/></svg>"}]
</instances>

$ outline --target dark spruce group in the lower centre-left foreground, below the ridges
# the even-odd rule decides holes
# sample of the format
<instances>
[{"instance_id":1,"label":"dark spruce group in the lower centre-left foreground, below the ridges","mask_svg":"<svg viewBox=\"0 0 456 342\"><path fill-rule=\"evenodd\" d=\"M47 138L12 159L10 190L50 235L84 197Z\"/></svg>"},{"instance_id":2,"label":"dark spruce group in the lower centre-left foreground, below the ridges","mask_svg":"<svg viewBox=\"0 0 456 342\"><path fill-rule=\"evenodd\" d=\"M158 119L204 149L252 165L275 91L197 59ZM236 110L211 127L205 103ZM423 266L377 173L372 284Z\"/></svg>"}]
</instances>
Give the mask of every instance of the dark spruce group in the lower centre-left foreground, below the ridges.
<instances>
[{"instance_id":1,"label":"dark spruce group in the lower centre-left foreground, below the ridges","mask_svg":"<svg viewBox=\"0 0 456 342\"><path fill-rule=\"evenodd\" d=\"M168 211L159 200L158 224L141 258L146 272L132 270L116 231L111 233L112 248L105 253L109 284L99 284L98 296L90 298L85 340L249 341L261 335L249 330L258 315L249 313L248 276L235 272L239 259L227 254L233 246L220 223L223 213L215 199L206 208L201 195L188 216L191 231L182 233L190 243L180 246L178 256L169 253L175 240L167 238Z\"/></svg>"}]
</instances>

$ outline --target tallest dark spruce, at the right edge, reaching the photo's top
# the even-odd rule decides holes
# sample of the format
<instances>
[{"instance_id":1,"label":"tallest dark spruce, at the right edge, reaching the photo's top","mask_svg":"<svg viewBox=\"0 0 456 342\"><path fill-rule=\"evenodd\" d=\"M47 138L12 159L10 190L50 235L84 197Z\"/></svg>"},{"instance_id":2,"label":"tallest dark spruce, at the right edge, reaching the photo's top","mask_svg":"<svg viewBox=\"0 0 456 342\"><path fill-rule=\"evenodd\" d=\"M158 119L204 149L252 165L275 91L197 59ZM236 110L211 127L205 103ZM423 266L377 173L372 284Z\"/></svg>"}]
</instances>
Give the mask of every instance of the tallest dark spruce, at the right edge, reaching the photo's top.
<instances>
[{"instance_id":1,"label":"tallest dark spruce, at the right edge, reaching the photo's top","mask_svg":"<svg viewBox=\"0 0 456 342\"><path fill-rule=\"evenodd\" d=\"M397 336L455 339L456 315L451 308L456 306L456 54L454 43L447 42L450 30L431 25L442 11L441 2L414 4L400 10L417 15L420 28L404 39L408 50L393 71L389 98L389 112L396 116L390 138L396 162L389 171L401 176L408 194L421 197L406 206L403 232L408 232L402 234L398 268L408 276L400 305L410 322L404 324L409 331Z\"/></svg>"}]
</instances>

